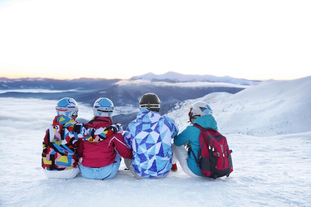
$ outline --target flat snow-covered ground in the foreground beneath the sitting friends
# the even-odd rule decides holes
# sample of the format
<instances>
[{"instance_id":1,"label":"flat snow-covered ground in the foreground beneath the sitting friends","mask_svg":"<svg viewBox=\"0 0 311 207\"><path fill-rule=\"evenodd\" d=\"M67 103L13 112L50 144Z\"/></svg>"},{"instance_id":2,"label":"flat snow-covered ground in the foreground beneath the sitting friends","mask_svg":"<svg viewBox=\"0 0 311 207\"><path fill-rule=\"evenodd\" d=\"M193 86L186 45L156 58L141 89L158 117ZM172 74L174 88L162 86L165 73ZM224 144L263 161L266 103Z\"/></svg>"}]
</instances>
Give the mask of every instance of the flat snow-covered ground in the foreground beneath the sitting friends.
<instances>
[{"instance_id":1,"label":"flat snow-covered ground in the foreground beneath the sitting friends","mask_svg":"<svg viewBox=\"0 0 311 207\"><path fill-rule=\"evenodd\" d=\"M122 162L112 180L47 179L43 132L0 138L1 207L310 207L311 133L278 137L228 135L234 171L228 178L137 180Z\"/></svg>"}]
</instances>

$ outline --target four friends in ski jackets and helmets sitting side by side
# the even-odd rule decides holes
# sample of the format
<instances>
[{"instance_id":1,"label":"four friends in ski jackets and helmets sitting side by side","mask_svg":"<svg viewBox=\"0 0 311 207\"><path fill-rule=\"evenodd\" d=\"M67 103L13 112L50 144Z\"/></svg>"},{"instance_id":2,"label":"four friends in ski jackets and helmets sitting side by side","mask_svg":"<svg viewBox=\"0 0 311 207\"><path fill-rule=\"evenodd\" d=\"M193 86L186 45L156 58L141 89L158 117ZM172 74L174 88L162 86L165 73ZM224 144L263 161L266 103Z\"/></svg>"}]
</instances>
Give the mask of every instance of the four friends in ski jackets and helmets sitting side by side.
<instances>
[{"instance_id":1,"label":"four friends in ski jackets and helmets sitting side by side","mask_svg":"<svg viewBox=\"0 0 311 207\"><path fill-rule=\"evenodd\" d=\"M123 132L122 126L112 121L114 106L110 99L95 101L94 117L86 124L76 120L78 104L73 98L59 100L57 116L43 140L44 174L59 179L71 179L79 173L88 179L111 179L123 157L138 179L163 178L177 170L177 161L187 175L205 177L193 156L200 148L200 130L192 124L217 130L211 107L205 102L193 103L188 114L191 125L180 134L174 120L159 114L156 94L144 94L139 107L137 118Z\"/></svg>"}]
</instances>

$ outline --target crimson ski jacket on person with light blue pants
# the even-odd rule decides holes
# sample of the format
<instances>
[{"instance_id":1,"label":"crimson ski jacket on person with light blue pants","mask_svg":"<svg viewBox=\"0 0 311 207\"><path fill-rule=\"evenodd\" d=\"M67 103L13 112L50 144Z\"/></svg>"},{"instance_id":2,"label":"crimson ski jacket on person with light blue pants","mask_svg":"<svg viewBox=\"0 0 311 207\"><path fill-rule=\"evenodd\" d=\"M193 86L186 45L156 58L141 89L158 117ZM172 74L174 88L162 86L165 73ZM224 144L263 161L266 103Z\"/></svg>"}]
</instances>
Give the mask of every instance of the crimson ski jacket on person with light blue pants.
<instances>
[{"instance_id":1,"label":"crimson ski jacket on person with light blue pants","mask_svg":"<svg viewBox=\"0 0 311 207\"><path fill-rule=\"evenodd\" d=\"M106 117L97 117L89 121L87 128L98 129L109 127L113 123ZM115 162L116 151L127 159L132 159L132 149L130 149L122 134L113 134L100 142L89 142L79 140L77 154L82 157L82 165L85 167L105 167Z\"/></svg>"}]
</instances>

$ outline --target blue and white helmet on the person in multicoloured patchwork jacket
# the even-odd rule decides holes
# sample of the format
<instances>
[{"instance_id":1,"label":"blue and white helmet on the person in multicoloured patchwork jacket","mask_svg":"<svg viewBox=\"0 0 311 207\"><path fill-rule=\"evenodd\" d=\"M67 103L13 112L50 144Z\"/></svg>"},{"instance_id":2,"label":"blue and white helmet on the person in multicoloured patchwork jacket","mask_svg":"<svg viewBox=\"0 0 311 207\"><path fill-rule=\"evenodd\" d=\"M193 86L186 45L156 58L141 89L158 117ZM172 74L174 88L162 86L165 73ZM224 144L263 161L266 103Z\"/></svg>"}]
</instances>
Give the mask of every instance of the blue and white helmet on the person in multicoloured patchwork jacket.
<instances>
[{"instance_id":1,"label":"blue and white helmet on the person in multicoloured patchwork jacket","mask_svg":"<svg viewBox=\"0 0 311 207\"><path fill-rule=\"evenodd\" d=\"M73 98L62 98L56 104L58 116L78 117L78 103Z\"/></svg>"}]
</instances>

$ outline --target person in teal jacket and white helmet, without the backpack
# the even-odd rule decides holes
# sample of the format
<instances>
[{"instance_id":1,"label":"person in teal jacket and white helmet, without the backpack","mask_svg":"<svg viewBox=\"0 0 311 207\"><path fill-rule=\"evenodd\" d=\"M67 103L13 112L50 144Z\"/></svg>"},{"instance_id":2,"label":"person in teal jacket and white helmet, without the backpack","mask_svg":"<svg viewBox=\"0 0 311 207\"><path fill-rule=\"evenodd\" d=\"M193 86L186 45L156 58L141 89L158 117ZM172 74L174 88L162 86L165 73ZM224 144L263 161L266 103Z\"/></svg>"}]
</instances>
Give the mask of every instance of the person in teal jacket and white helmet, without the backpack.
<instances>
[{"instance_id":1,"label":"person in teal jacket and white helmet, without the backpack","mask_svg":"<svg viewBox=\"0 0 311 207\"><path fill-rule=\"evenodd\" d=\"M213 111L207 103L198 101L191 105L188 116L191 124L198 124L203 128L213 128L218 131L217 122L212 114ZM190 125L174 138L174 143L172 144L173 171L177 170L176 162L178 161L187 175L192 177L205 177L201 173L193 153L190 152L190 150L192 150L194 154L198 154L200 149L200 133L201 131L197 127ZM190 146L188 151L184 147L185 144L187 144L188 147Z\"/></svg>"}]
</instances>

